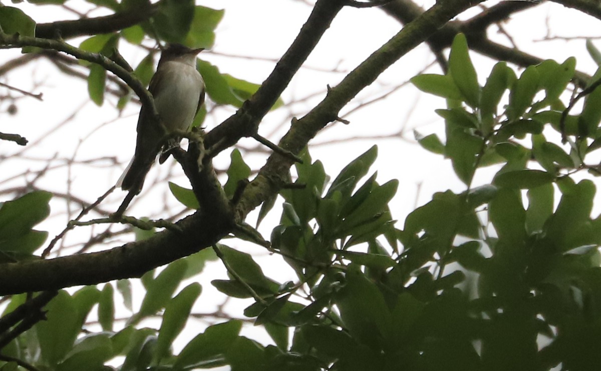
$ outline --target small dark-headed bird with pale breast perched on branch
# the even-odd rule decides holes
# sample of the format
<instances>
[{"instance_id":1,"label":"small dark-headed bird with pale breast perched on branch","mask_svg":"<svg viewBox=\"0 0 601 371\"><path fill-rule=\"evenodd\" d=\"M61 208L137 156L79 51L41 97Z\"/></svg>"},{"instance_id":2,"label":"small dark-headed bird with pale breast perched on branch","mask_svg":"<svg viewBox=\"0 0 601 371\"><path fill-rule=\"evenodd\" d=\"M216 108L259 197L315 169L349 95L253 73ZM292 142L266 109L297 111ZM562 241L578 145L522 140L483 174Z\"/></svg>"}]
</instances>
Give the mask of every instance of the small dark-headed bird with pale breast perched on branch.
<instances>
[{"instance_id":1,"label":"small dark-headed bird with pale breast perched on branch","mask_svg":"<svg viewBox=\"0 0 601 371\"><path fill-rule=\"evenodd\" d=\"M196 68L197 55L202 50L182 44L168 44L162 51L148 91L153 95L154 106L164 129L150 119L152 113L148 107L142 106L136 128L136 149L117 181L117 187L122 190L136 194L141 192L144 179L157 155L161 154L159 161L163 163L169 157L169 151L179 145L179 140L163 142L165 134L189 130L191 127L204 102L204 80Z\"/></svg>"}]
</instances>

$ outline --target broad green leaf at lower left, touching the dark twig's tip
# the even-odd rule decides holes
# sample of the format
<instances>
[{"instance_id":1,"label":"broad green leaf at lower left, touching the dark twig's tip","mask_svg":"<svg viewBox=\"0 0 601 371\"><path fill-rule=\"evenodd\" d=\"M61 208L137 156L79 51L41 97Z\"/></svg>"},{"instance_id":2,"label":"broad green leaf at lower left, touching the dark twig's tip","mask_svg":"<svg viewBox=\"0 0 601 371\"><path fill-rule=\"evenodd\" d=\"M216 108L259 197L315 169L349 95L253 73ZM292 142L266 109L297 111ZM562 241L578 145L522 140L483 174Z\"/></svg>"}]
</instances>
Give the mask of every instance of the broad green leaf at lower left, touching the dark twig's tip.
<instances>
[{"instance_id":1,"label":"broad green leaf at lower left, touching the dark twig's tip","mask_svg":"<svg viewBox=\"0 0 601 371\"><path fill-rule=\"evenodd\" d=\"M78 310L73 298L63 290L47 304L45 310L46 321L38 322L35 328L41 357L48 364L56 365L73 348L73 342L81 331Z\"/></svg>"}]
</instances>

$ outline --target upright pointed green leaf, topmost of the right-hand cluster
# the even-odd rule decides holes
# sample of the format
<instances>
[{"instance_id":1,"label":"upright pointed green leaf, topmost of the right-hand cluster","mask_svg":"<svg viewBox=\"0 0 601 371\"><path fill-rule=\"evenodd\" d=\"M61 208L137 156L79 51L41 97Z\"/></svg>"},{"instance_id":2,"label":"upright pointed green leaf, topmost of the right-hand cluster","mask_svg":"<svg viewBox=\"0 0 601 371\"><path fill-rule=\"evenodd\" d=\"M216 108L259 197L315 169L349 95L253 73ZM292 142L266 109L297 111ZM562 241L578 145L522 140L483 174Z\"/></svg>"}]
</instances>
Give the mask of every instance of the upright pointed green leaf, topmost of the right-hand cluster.
<instances>
[{"instance_id":1,"label":"upright pointed green leaf, topmost of the right-hand cluster","mask_svg":"<svg viewBox=\"0 0 601 371\"><path fill-rule=\"evenodd\" d=\"M476 70L469 58L468 41L463 34L457 34L451 46L449 56L449 74L466 103L472 107L480 106L480 86Z\"/></svg>"}]
</instances>

